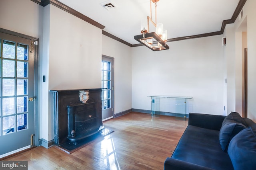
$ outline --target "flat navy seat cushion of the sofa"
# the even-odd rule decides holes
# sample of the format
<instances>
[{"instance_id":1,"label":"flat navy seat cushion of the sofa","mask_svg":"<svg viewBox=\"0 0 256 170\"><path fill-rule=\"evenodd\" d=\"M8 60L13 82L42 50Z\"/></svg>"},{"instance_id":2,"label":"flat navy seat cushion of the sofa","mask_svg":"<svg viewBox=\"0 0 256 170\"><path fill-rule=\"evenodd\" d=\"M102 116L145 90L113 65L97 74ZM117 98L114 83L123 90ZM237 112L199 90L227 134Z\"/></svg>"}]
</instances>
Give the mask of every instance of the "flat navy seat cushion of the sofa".
<instances>
[{"instance_id":1,"label":"flat navy seat cushion of the sofa","mask_svg":"<svg viewBox=\"0 0 256 170\"><path fill-rule=\"evenodd\" d=\"M228 153L220 147L219 133L188 125L171 158L212 169L234 169Z\"/></svg>"}]
</instances>

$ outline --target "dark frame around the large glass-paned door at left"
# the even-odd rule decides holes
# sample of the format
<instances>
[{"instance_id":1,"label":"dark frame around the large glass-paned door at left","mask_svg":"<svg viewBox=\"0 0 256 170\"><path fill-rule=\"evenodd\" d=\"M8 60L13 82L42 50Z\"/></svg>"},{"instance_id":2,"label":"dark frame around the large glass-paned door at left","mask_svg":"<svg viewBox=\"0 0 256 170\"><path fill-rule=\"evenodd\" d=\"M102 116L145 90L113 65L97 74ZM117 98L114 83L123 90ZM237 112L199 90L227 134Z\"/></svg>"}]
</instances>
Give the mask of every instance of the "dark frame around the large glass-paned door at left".
<instances>
[{"instance_id":1,"label":"dark frame around the large glass-paned door at left","mask_svg":"<svg viewBox=\"0 0 256 170\"><path fill-rule=\"evenodd\" d=\"M32 36L29 36L29 35L25 35L25 34L22 34L22 33L17 33L17 32L14 32L14 31L7 30L7 29L0 28L0 32L6 33L6 34L9 34L9 35L13 35L13 36L16 36L16 37L22 37L24 39L29 39L31 41L39 42L39 38L32 37ZM35 100L34 100L34 104L35 104L35 108L34 108L34 116L35 116L35 119L34 119L34 126L35 127L34 128L35 128L35 134L34 135L35 136L34 136L34 145L35 146L39 146L38 45L35 45L34 52L35 52L35 63L34 63L34 98L35 98Z\"/></svg>"}]
</instances>

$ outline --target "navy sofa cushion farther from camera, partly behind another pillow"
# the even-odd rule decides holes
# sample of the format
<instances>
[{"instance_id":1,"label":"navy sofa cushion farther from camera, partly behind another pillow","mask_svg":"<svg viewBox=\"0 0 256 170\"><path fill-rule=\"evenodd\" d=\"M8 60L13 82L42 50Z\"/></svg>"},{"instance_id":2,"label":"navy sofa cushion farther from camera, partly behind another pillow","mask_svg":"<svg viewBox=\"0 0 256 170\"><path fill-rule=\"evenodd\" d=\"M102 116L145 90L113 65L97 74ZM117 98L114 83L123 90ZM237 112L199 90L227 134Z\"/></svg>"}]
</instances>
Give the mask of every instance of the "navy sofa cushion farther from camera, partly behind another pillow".
<instances>
[{"instance_id":1,"label":"navy sofa cushion farther from camera, partly behind another pillow","mask_svg":"<svg viewBox=\"0 0 256 170\"><path fill-rule=\"evenodd\" d=\"M220 145L224 151L228 150L231 139L246 128L243 118L237 112L231 112L225 117L220 128Z\"/></svg>"}]
</instances>

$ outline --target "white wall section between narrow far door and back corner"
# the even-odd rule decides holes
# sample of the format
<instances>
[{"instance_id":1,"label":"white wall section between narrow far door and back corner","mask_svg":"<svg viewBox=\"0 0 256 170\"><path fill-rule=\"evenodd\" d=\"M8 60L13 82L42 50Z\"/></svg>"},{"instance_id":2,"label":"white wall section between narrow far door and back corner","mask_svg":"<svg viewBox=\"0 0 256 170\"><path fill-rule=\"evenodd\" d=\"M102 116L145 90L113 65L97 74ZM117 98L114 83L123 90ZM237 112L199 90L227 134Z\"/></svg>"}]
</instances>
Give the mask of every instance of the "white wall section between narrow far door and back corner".
<instances>
[{"instance_id":1,"label":"white wall section between narrow far door and back corner","mask_svg":"<svg viewBox=\"0 0 256 170\"><path fill-rule=\"evenodd\" d=\"M132 108L132 47L102 35L102 54L114 58L114 114Z\"/></svg>"}]
</instances>

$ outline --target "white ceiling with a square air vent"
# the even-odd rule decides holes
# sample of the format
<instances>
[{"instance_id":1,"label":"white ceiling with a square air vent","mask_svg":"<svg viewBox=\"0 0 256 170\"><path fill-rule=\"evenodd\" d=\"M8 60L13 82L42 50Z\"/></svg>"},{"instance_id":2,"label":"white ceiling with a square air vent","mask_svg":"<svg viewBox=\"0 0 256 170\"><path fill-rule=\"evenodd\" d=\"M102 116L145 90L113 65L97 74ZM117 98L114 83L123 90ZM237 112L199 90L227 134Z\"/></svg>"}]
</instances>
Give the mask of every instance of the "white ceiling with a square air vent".
<instances>
[{"instance_id":1,"label":"white ceiling with a square air vent","mask_svg":"<svg viewBox=\"0 0 256 170\"><path fill-rule=\"evenodd\" d=\"M150 16L151 0L58 0L105 26L104 31L130 43L138 44L141 20ZM111 2L106 9L101 4ZM168 39L220 31L222 21L230 20L239 0L160 0L157 23L163 23ZM104 3L106 4L106 3ZM152 3L152 20L155 21ZM155 31L150 27L150 32Z\"/></svg>"}]
</instances>

